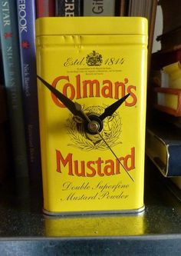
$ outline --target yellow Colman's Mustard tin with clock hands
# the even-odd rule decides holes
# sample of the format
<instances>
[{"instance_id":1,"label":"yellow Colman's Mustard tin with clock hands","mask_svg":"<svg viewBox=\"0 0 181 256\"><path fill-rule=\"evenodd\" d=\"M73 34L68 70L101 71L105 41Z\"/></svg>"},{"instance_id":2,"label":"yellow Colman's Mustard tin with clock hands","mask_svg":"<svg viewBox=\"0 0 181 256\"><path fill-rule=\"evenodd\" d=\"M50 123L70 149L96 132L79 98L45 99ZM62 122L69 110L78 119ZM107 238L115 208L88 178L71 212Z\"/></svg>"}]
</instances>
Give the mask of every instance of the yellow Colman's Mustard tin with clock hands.
<instances>
[{"instance_id":1,"label":"yellow Colman's Mustard tin with clock hands","mask_svg":"<svg viewBox=\"0 0 181 256\"><path fill-rule=\"evenodd\" d=\"M44 213L143 211L147 21L36 21Z\"/></svg>"}]
</instances>

